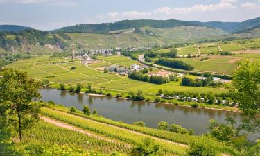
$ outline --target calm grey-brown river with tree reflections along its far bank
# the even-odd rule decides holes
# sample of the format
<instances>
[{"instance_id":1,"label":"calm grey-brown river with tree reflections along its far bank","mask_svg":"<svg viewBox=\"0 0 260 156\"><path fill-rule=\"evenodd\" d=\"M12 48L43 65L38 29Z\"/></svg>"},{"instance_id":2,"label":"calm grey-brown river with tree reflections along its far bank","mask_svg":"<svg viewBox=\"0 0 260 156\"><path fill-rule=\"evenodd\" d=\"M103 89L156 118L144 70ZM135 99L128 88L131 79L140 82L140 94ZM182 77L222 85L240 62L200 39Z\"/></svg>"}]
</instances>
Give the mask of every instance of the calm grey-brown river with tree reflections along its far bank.
<instances>
[{"instance_id":1,"label":"calm grey-brown river with tree reflections along its far bank","mask_svg":"<svg viewBox=\"0 0 260 156\"><path fill-rule=\"evenodd\" d=\"M68 107L75 106L78 110L83 110L83 105L89 105L91 110L95 108L102 116L116 121L133 123L141 120L152 128L156 128L159 121L166 121L182 125L184 128L192 128L197 135L207 132L210 119L223 122L227 117L232 117L236 121L241 121L241 114L237 112L130 101L106 96L87 96L56 89L41 89L40 92L43 101L54 101Z\"/></svg>"}]
</instances>

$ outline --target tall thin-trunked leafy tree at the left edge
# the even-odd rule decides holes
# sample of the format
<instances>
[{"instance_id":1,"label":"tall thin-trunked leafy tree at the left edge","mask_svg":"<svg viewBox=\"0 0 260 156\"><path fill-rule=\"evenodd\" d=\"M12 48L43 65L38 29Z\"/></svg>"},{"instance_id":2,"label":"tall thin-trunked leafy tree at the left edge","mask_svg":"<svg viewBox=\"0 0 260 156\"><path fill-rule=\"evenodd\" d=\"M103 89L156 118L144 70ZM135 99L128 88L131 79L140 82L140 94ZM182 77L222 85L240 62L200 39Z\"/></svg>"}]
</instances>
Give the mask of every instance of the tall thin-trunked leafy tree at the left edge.
<instances>
[{"instance_id":1,"label":"tall thin-trunked leafy tree at the left edge","mask_svg":"<svg viewBox=\"0 0 260 156\"><path fill-rule=\"evenodd\" d=\"M21 141L22 130L30 128L33 122L39 119L40 105L32 103L32 99L40 98L40 83L16 69L6 69L2 72L2 76L0 107L1 110L5 110L8 121L18 129Z\"/></svg>"}]
</instances>

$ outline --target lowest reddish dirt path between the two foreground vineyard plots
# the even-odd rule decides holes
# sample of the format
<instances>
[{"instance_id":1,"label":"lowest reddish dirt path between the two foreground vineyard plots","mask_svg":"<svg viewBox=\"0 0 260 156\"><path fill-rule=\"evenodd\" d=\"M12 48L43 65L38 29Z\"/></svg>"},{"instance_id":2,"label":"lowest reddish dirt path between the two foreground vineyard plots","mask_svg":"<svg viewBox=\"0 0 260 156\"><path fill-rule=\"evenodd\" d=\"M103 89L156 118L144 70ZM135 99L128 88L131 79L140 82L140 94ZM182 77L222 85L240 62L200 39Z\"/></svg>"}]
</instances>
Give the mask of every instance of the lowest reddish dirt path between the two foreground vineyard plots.
<instances>
[{"instance_id":1,"label":"lowest reddish dirt path between the two foreground vineyard plots","mask_svg":"<svg viewBox=\"0 0 260 156\"><path fill-rule=\"evenodd\" d=\"M75 132L83 133L83 134L85 134L85 135L87 135L87 136L89 136L89 137L94 137L94 138L99 139L99 140L104 140L104 141L112 142L112 143L114 143L114 144L122 144L122 143L120 143L119 141L115 141L115 140L113 140L113 139L108 139L108 138L106 138L106 137L93 134L92 132L88 132L87 130L82 130L82 129L80 129L80 128L74 127L73 125L68 125L68 124L66 124L66 123L62 123L62 122L60 122L60 121L56 121L56 120L54 120L54 119L50 119L50 118L45 117L45 116L41 116L40 119L42 119L43 121L45 121L45 122L47 122L47 123L52 123L53 125L56 125L56 126L58 126L58 127L60 127L60 128L66 128L66 129L68 129L68 130L73 130L73 131L75 131ZM125 146L125 147L128 147L128 148L131 147L130 144L124 144L124 146Z\"/></svg>"}]
</instances>

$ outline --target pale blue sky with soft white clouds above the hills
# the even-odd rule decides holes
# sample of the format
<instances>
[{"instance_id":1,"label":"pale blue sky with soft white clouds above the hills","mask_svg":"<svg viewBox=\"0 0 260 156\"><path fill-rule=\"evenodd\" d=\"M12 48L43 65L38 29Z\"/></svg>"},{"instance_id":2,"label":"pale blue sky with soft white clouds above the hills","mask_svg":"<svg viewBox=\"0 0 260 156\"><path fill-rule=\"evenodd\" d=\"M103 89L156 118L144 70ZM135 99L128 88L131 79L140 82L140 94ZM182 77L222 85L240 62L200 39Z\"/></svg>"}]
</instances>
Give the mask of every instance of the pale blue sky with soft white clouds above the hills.
<instances>
[{"instance_id":1,"label":"pale blue sky with soft white clouds above the hills","mask_svg":"<svg viewBox=\"0 0 260 156\"><path fill-rule=\"evenodd\" d=\"M0 0L0 24L53 30L123 19L245 21L260 0Z\"/></svg>"}]
</instances>

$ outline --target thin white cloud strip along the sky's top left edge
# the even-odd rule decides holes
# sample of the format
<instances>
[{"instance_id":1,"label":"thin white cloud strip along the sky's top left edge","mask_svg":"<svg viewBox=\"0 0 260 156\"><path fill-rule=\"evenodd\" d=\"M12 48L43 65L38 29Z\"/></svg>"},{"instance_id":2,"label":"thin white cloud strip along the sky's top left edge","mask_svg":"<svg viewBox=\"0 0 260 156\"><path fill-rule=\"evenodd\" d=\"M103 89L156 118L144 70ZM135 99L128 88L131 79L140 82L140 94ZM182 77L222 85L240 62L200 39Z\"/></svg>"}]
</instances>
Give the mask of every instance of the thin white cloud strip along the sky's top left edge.
<instances>
[{"instance_id":1,"label":"thin white cloud strip along the sky's top left edge","mask_svg":"<svg viewBox=\"0 0 260 156\"><path fill-rule=\"evenodd\" d=\"M50 6L77 6L78 3L67 0L0 0L0 3L21 3L21 4L37 4L46 3Z\"/></svg>"}]
</instances>

